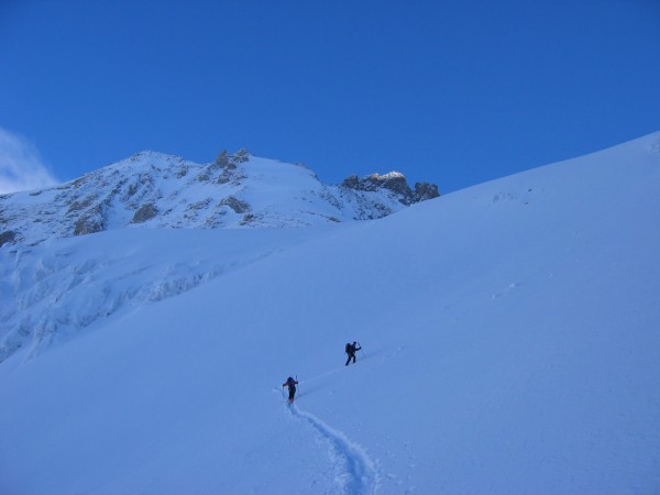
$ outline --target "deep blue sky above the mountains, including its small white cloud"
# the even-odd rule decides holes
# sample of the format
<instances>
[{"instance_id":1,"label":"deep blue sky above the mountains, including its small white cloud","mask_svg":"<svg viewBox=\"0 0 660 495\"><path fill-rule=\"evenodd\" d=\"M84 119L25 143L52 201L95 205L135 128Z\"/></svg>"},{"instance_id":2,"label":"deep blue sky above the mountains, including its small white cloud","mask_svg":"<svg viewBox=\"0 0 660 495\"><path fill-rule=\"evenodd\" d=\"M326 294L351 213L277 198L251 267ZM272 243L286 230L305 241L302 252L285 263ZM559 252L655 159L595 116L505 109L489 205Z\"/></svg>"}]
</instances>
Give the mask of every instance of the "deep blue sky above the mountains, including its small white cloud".
<instances>
[{"instance_id":1,"label":"deep blue sky above the mountains, including its small white cloud","mask_svg":"<svg viewBox=\"0 0 660 495\"><path fill-rule=\"evenodd\" d=\"M657 0L3 0L0 184L246 147L447 193L660 130L658 61Z\"/></svg>"}]
</instances>

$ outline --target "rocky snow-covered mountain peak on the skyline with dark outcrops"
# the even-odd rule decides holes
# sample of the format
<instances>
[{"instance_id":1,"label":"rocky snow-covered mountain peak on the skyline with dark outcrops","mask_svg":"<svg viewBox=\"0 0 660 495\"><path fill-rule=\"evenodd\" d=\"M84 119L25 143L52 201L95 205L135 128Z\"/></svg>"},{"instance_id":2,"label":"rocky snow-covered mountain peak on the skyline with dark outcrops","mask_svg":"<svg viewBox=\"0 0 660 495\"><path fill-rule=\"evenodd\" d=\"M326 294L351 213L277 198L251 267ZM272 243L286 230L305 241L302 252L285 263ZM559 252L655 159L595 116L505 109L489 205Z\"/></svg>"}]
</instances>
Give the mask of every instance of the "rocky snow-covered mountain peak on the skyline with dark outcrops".
<instances>
[{"instance_id":1,"label":"rocky snow-covered mountain peak on the skyline with dark outcrops","mask_svg":"<svg viewBox=\"0 0 660 495\"><path fill-rule=\"evenodd\" d=\"M144 152L61 187L0 197L0 245L122 228L290 228L392 215L438 197L399 173L328 186L302 165L220 153L198 165Z\"/></svg>"}]
</instances>

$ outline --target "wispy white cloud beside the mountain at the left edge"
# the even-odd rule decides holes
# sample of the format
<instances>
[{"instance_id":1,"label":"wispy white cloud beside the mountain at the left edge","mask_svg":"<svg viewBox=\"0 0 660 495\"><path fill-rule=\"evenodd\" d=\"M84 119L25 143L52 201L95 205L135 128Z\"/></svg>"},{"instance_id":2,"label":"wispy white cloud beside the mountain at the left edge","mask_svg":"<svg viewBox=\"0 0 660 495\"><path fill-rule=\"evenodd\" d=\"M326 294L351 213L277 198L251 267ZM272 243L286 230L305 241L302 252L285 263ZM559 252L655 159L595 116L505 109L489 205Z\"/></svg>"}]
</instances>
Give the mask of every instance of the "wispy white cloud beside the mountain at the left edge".
<instances>
[{"instance_id":1,"label":"wispy white cloud beside the mountain at the left edge","mask_svg":"<svg viewBox=\"0 0 660 495\"><path fill-rule=\"evenodd\" d=\"M0 194L38 189L58 184L25 138L0 128Z\"/></svg>"}]
</instances>

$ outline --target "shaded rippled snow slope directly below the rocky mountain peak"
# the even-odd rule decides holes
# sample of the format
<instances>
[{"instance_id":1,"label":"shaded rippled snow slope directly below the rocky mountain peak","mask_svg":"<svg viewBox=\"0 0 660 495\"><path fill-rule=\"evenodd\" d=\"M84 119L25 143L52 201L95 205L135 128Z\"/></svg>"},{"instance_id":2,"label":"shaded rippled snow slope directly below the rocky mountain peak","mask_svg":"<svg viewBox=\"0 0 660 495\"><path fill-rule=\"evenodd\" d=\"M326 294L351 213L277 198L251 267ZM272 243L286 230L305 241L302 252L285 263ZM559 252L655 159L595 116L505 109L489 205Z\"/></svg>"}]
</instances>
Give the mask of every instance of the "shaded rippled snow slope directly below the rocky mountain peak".
<instances>
[{"instance_id":1,"label":"shaded rippled snow slope directly below the rocky mountain peak","mask_svg":"<svg viewBox=\"0 0 660 495\"><path fill-rule=\"evenodd\" d=\"M0 362L22 348L33 358L99 318L176 296L316 232L114 230L3 250Z\"/></svg>"}]
</instances>

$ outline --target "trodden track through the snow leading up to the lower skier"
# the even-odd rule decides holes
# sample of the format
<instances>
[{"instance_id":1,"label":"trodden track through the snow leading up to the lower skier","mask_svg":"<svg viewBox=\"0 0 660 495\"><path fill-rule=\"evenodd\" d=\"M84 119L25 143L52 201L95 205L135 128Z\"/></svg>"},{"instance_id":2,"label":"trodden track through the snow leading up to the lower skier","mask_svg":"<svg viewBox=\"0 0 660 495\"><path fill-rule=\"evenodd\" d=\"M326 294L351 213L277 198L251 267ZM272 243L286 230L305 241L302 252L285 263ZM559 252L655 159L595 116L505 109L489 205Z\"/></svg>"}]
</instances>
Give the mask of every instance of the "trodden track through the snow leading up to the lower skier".
<instances>
[{"instance_id":1,"label":"trodden track through the snow leading up to the lower skier","mask_svg":"<svg viewBox=\"0 0 660 495\"><path fill-rule=\"evenodd\" d=\"M316 416L298 409L294 404L290 405L289 410L293 416L311 425L330 443L330 458L338 466L336 481L341 490L340 493L361 495L376 493L378 485L376 464L361 446Z\"/></svg>"}]
</instances>

